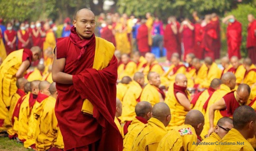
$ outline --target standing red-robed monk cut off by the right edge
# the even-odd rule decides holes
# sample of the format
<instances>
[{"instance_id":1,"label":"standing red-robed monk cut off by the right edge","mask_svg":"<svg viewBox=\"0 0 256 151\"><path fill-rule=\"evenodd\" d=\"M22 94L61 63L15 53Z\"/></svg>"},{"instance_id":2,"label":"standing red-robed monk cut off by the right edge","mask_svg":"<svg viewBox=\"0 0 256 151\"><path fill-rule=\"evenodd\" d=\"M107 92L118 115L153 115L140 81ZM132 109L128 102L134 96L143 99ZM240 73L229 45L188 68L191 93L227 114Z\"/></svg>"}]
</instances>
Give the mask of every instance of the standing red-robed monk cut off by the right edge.
<instances>
[{"instance_id":1,"label":"standing red-robed monk cut off by the right edge","mask_svg":"<svg viewBox=\"0 0 256 151\"><path fill-rule=\"evenodd\" d=\"M256 20L252 14L248 15L249 25L247 27L247 43L248 57L251 58L253 64L256 64Z\"/></svg>"}]
</instances>

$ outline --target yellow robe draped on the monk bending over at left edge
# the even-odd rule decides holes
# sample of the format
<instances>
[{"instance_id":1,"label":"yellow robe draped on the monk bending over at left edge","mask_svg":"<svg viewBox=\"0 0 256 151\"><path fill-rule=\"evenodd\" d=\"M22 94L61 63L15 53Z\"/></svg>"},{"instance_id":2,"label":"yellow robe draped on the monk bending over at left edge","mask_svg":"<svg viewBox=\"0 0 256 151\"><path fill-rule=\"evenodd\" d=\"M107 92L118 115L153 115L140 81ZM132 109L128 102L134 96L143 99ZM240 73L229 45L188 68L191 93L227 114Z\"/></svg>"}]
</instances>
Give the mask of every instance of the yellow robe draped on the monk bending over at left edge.
<instances>
[{"instance_id":1,"label":"yellow robe draped on the monk bending over at left edge","mask_svg":"<svg viewBox=\"0 0 256 151\"><path fill-rule=\"evenodd\" d=\"M3 60L0 66L0 120L4 120L8 113L6 101L17 91L16 73L22 64L22 55L23 49L14 51Z\"/></svg>"}]
</instances>

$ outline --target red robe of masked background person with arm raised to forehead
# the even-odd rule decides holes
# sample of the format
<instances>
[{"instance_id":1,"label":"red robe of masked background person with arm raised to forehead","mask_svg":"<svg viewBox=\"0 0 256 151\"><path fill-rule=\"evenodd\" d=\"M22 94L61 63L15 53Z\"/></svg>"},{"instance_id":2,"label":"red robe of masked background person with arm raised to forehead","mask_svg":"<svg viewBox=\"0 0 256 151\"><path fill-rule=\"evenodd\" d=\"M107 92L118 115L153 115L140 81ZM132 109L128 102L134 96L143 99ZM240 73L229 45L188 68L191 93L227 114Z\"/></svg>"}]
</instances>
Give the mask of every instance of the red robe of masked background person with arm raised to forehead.
<instances>
[{"instance_id":1,"label":"red robe of masked background person with arm raised to forehead","mask_svg":"<svg viewBox=\"0 0 256 151\"><path fill-rule=\"evenodd\" d=\"M227 26L227 52L228 57L237 56L241 59L240 46L242 42L242 24L238 21Z\"/></svg>"}]
</instances>

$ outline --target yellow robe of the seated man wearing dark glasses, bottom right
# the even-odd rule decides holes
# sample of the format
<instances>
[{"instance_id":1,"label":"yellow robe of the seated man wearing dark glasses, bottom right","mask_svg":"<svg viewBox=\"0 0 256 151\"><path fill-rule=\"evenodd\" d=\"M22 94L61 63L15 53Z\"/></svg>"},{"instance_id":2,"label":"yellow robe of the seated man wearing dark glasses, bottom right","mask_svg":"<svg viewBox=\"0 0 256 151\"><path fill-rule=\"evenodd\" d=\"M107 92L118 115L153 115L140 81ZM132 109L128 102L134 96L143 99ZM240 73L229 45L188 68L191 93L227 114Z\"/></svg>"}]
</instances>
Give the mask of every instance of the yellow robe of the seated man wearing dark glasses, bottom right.
<instances>
[{"instance_id":1,"label":"yellow robe of the seated man wearing dark glasses, bottom right","mask_svg":"<svg viewBox=\"0 0 256 151\"><path fill-rule=\"evenodd\" d=\"M214 151L214 148L216 147L216 144L209 144L209 143L215 143L215 142L220 142L221 138L218 134L213 132L209 137L204 139L202 143L208 143L208 145L198 145L195 148L195 151Z\"/></svg>"}]
</instances>

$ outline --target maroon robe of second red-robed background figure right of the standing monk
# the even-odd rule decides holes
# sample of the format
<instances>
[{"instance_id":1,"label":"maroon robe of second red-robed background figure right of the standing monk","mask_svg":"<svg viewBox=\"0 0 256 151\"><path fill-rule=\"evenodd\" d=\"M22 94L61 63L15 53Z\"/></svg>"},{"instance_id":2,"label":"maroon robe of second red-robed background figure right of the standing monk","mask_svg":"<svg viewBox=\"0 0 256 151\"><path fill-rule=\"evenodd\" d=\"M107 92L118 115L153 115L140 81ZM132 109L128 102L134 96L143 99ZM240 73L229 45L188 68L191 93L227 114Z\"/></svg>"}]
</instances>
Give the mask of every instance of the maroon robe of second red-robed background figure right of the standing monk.
<instances>
[{"instance_id":1,"label":"maroon robe of second red-robed background figure right of the standing monk","mask_svg":"<svg viewBox=\"0 0 256 151\"><path fill-rule=\"evenodd\" d=\"M172 25L173 23L167 24L164 31L164 47L167 51L167 60L171 59L173 53L180 54L179 45L181 45L181 43L178 41L178 33L176 35L173 33Z\"/></svg>"}]
</instances>

